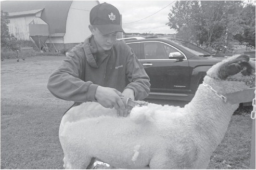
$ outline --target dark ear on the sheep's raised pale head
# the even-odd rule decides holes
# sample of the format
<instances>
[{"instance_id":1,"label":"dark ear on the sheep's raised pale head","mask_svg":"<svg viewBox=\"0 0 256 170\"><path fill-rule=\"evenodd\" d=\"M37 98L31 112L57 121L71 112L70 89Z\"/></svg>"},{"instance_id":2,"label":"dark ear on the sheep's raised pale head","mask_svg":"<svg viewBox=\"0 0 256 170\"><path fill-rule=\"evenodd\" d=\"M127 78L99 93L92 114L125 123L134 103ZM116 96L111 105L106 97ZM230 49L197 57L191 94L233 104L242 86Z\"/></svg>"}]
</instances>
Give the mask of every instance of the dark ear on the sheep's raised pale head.
<instances>
[{"instance_id":1,"label":"dark ear on the sheep's raised pale head","mask_svg":"<svg viewBox=\"0 0 256 170\"><path fill-rule=\"evenodd\" d=\"M249 60L249 56L241 55L233 60L223 63L217 70L217 77L223 80L228 76L235 75L239 72L244 76L254 74L254 69L249 63Z\"/></svg>"}]
</instances>

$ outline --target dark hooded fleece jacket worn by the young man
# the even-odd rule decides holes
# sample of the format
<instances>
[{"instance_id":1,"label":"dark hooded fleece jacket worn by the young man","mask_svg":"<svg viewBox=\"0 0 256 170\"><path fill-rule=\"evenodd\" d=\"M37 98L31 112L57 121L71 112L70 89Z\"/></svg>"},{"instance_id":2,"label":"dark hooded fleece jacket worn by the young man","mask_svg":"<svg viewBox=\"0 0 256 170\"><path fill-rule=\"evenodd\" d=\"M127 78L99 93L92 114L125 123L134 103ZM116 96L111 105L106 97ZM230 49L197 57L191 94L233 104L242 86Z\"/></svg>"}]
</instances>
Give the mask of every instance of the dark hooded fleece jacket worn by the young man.
<instances>
[{"instance_id":1,"label":"dark hooded fleece jacket worn by the young man","mask_svg":"<svg viewBox=\"0 0 256 170\"><path fill-rule=\"evenodd\" d=\"M146 98L150 91L149 77L133 50L117 40L110 50L98 52L89 43L92 41L91 35L70 51L61 66L50 75L49 91L64 100L96 101L95 93L100 85L120 92L132 88L135 100ZM130 82L127 86L126 77Z\"/></svg>"}]
</instances>

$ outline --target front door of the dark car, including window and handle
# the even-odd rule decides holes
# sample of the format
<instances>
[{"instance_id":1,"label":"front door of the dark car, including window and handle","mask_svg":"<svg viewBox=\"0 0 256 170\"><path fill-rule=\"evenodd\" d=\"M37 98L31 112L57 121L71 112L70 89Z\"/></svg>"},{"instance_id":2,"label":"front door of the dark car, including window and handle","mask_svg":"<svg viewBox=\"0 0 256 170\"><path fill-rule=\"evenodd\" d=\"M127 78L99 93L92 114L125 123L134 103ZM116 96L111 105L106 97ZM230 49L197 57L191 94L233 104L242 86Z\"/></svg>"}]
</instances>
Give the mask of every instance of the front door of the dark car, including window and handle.
<instances>
[{"instance_id":1,"label":"front door of the dark car, including window and handle","mask_svg":"<svg viewBox=\"0 0 256 170\"><path fill-rule=\"evenodd\" d=\"M188 60L182 51L157 41L142 42L140 46L143 54L139 61L150 77L151 92L189 93ZM184 58L181 60L172 58L175 54L182 54Z\"/></svg>"}]
</instances>

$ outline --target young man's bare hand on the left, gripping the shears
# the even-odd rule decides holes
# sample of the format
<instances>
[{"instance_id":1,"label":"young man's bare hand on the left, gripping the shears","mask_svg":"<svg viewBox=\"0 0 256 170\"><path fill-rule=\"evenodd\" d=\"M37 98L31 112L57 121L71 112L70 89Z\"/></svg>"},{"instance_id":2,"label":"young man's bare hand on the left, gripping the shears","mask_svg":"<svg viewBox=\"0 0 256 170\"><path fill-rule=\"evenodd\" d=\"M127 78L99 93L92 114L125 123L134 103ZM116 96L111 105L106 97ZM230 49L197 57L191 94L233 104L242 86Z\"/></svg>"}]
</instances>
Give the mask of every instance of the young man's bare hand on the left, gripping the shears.
<instances>
[{"instance_id":1,"label":"young man's bare hand on the left, gripping the shears","mask_svg":"<svg viewBox=\"0 0 256 170\"><path fill-rule=\"evenodd\" d=\"M125 106L121 99L124 96L120 91L114 88L98 86L95 99L105 108L114 108L118 116L125 116Z\"/></svg>"}]
</instances>

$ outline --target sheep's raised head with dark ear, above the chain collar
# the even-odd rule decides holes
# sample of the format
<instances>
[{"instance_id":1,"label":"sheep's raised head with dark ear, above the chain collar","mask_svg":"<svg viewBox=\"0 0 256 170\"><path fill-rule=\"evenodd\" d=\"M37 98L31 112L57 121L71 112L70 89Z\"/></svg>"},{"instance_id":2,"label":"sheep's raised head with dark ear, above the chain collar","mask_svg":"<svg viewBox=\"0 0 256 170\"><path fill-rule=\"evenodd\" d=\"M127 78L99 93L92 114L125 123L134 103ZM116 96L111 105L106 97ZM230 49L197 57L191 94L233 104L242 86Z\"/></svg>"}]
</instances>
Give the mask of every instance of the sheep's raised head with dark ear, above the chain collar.
<instances>
[{"instance_id":1,"label":"sheep's raised head with dark ear, above the chain collar","mask_svg":"<svg viewBox=\"0 0 256 170\"><path fill-rule=\"evenodd\" d=\"M207 71L207 75L204 83L214 86L219 93L227 94L255 87L255 61L246 55L229 57L216 63Z\"/></svg>"}]
</instances>

